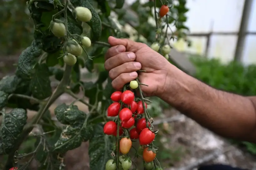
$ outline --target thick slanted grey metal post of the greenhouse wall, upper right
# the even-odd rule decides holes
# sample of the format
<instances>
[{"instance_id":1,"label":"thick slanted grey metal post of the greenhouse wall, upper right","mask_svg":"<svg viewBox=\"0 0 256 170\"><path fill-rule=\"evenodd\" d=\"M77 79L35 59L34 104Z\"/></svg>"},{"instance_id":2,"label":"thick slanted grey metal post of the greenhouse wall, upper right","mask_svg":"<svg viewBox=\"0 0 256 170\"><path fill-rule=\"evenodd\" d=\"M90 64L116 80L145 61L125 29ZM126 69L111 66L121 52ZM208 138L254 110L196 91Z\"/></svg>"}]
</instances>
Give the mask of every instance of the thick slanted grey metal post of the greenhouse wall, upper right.
<instances>
[{"instance_id":1,"label":"thick slanted grey metal post of the greenhouse wall, upper right","mask_svg":"<svg viewBox=\"0 0 256 170\"><path fill-rule=\"evenodd\" d=\"M249 22L251 10L252 10L252 4L253 4L253 0L244 1L244 10L243 10L240 29L238 33L234 61L241 62L242 60L242 56L244 52L244 41L245 41L247 29L248 29L248 22Z\"/></svg>"}]
</instances>

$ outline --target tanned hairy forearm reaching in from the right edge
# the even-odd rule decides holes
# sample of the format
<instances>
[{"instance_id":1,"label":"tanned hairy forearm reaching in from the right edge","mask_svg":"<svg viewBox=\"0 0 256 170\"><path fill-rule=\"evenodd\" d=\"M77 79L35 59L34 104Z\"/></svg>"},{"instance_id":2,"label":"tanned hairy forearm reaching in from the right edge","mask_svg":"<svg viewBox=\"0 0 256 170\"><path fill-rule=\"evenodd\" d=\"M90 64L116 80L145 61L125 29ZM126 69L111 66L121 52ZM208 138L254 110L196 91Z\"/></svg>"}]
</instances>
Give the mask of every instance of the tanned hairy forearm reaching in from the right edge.
<instances>
[{"instance_id":1,"label":"tanned hairy forearm reaching in from the right edge","mask_svg":"<svg viewBox=\"0 0 256 170\"><path fill-rule=\"evenodd\" d=\"M216 90L180 70L176 73L166 79L171 88L163 100L218 135L256 142L256 97Z\"/></svg>"}]
</instances>

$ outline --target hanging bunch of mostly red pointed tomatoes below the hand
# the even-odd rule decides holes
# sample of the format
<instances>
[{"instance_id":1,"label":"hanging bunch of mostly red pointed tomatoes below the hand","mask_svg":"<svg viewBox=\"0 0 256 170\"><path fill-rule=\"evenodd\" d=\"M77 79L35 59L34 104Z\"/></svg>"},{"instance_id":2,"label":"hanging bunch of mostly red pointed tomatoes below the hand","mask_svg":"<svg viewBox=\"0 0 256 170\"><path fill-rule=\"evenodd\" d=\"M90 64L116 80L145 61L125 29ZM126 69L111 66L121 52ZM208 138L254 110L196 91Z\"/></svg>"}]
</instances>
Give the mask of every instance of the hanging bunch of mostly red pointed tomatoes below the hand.
<instances>
[{"instance_id":1,"label":"hanging bunch of mostly red pointed tomatoes below the hand","mask_svg":"<svg viewBox=\"0 0 256 170\"><path fill-rule=\"evenodd\" d=\"M130 85L132 85L133 87L133 88L131 87L131 89L135 89L135 87L137 88L137 84L135 82L132 82L132 83L130 83ZM111 100L113 101L113 103L107 109L107 116L110 116L110 117L119 116L120 118L119 135L120 136L123 135L124 130L126 130L126 136L121 137L121 140L119 142L120 152L124 155L129 153L130 148L132 147L132 140L139 139L140 148L138 149L137 153L139 156L143 157L146 163L148 163L145 165L145 167L151 167L152 161L155 159L156 153L148 149L147 145L149 145L155 139L155 133L149 129L150 122L147 122L147 120L143 118L143 114L144 114L143 102L141 100L136 99L134 92L131 90L126 90L124 92L120 92L120 91L113 92L111 95ZM147 104L145 102L144 104L145 104L145 108L147 108ZM116 136L117 126L118 126L117 120L108 121L104 125L104 133L106 135ZM127 136L128 131L129 131L129 137ZM121 158L120 158L120 161L122 163L121 164L122 168L127 169L127 166L123 167L123 161ZM109 164L110 163L108 163L108 167L111 167ZM129 161L124 164L127 164L127 165L129 164L131 166ZM113 165L112 162L111 162L111 165ZM110 170L111 168L108 168L108 169Z\"/></svg>"}]
</instances>

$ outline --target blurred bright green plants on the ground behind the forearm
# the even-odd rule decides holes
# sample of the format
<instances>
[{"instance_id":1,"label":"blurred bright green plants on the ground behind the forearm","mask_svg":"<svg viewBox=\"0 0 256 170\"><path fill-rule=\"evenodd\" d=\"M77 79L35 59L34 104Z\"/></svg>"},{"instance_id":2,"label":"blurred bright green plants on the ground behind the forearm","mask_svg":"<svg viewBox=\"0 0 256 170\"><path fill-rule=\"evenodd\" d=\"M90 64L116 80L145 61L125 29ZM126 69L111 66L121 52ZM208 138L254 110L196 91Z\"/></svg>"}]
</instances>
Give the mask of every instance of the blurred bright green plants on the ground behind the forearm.
<instances>
[{"instance_id":1,"label":"blurred bright green plants on the ground behind the forearm","mask_svg":"<svg viewBox=\"0 0 256 170\"><path fill-rule=\"evenodd\" d=\"M197 72L194 77L202 82L226 92L232 92L243 96L256 96L256 65L244 66L238 62L222 64L218 59L207 59L199 56L191 56ZM246 147L256 154L256 144L231 140L231 142Z\"/></svg>"}]
</instances>

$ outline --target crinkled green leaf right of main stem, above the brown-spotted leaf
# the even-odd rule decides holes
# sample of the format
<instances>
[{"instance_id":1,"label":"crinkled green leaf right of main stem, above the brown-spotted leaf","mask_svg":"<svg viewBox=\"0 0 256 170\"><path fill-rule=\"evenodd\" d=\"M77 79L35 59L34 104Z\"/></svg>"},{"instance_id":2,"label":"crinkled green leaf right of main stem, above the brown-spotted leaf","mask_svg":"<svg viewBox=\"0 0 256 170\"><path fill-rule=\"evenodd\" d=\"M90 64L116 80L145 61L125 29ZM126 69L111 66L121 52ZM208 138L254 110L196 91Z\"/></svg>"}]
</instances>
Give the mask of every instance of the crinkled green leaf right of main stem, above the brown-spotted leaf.
<instances>
[{"instance_id":1,"label":"crinkled green leaf right of main stem, above the brown-spotted leaf","mask_svg":"<svg viewBox=\"0 0 256 170\"><path fill-rule=\"evenodd\" d=\"M57 106L54 110L54 114L56 115L57 120L64 125L81 123L86 118L86 114L83 111L80 111L77 106L68 106L65 103Z\"/></svg>"}]
</instances>

